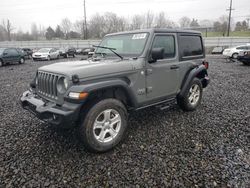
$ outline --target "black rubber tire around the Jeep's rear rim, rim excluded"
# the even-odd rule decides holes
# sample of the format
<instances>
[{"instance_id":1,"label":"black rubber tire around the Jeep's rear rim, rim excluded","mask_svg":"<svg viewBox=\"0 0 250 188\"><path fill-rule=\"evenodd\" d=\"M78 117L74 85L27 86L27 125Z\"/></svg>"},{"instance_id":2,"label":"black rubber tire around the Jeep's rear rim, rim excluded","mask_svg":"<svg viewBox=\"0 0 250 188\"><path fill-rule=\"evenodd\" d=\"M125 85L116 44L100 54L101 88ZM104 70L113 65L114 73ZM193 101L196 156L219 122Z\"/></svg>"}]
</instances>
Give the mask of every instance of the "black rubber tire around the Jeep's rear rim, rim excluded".
<instances>
[{"instance_id":1,"label":"black rubber tire around the Jeep's rear rim, rim excluded","mask_svg":"<svg viewBox=\"0 0 250 188\"><path fill-rule=\"evenodd\" d=\"M200 91L199 99L195 103L195 105L192 105L191 102L189 101L190 97L190 89L194 85L197 85ZM194 78L190 84L189 87L187 88L187 91L185 91L184 96L177 96L177 104L180 106L180 108L184 111L194 111L196 108L200 105L202 99L202 83L198 78Z\"/></svg>"}]
</instances>

